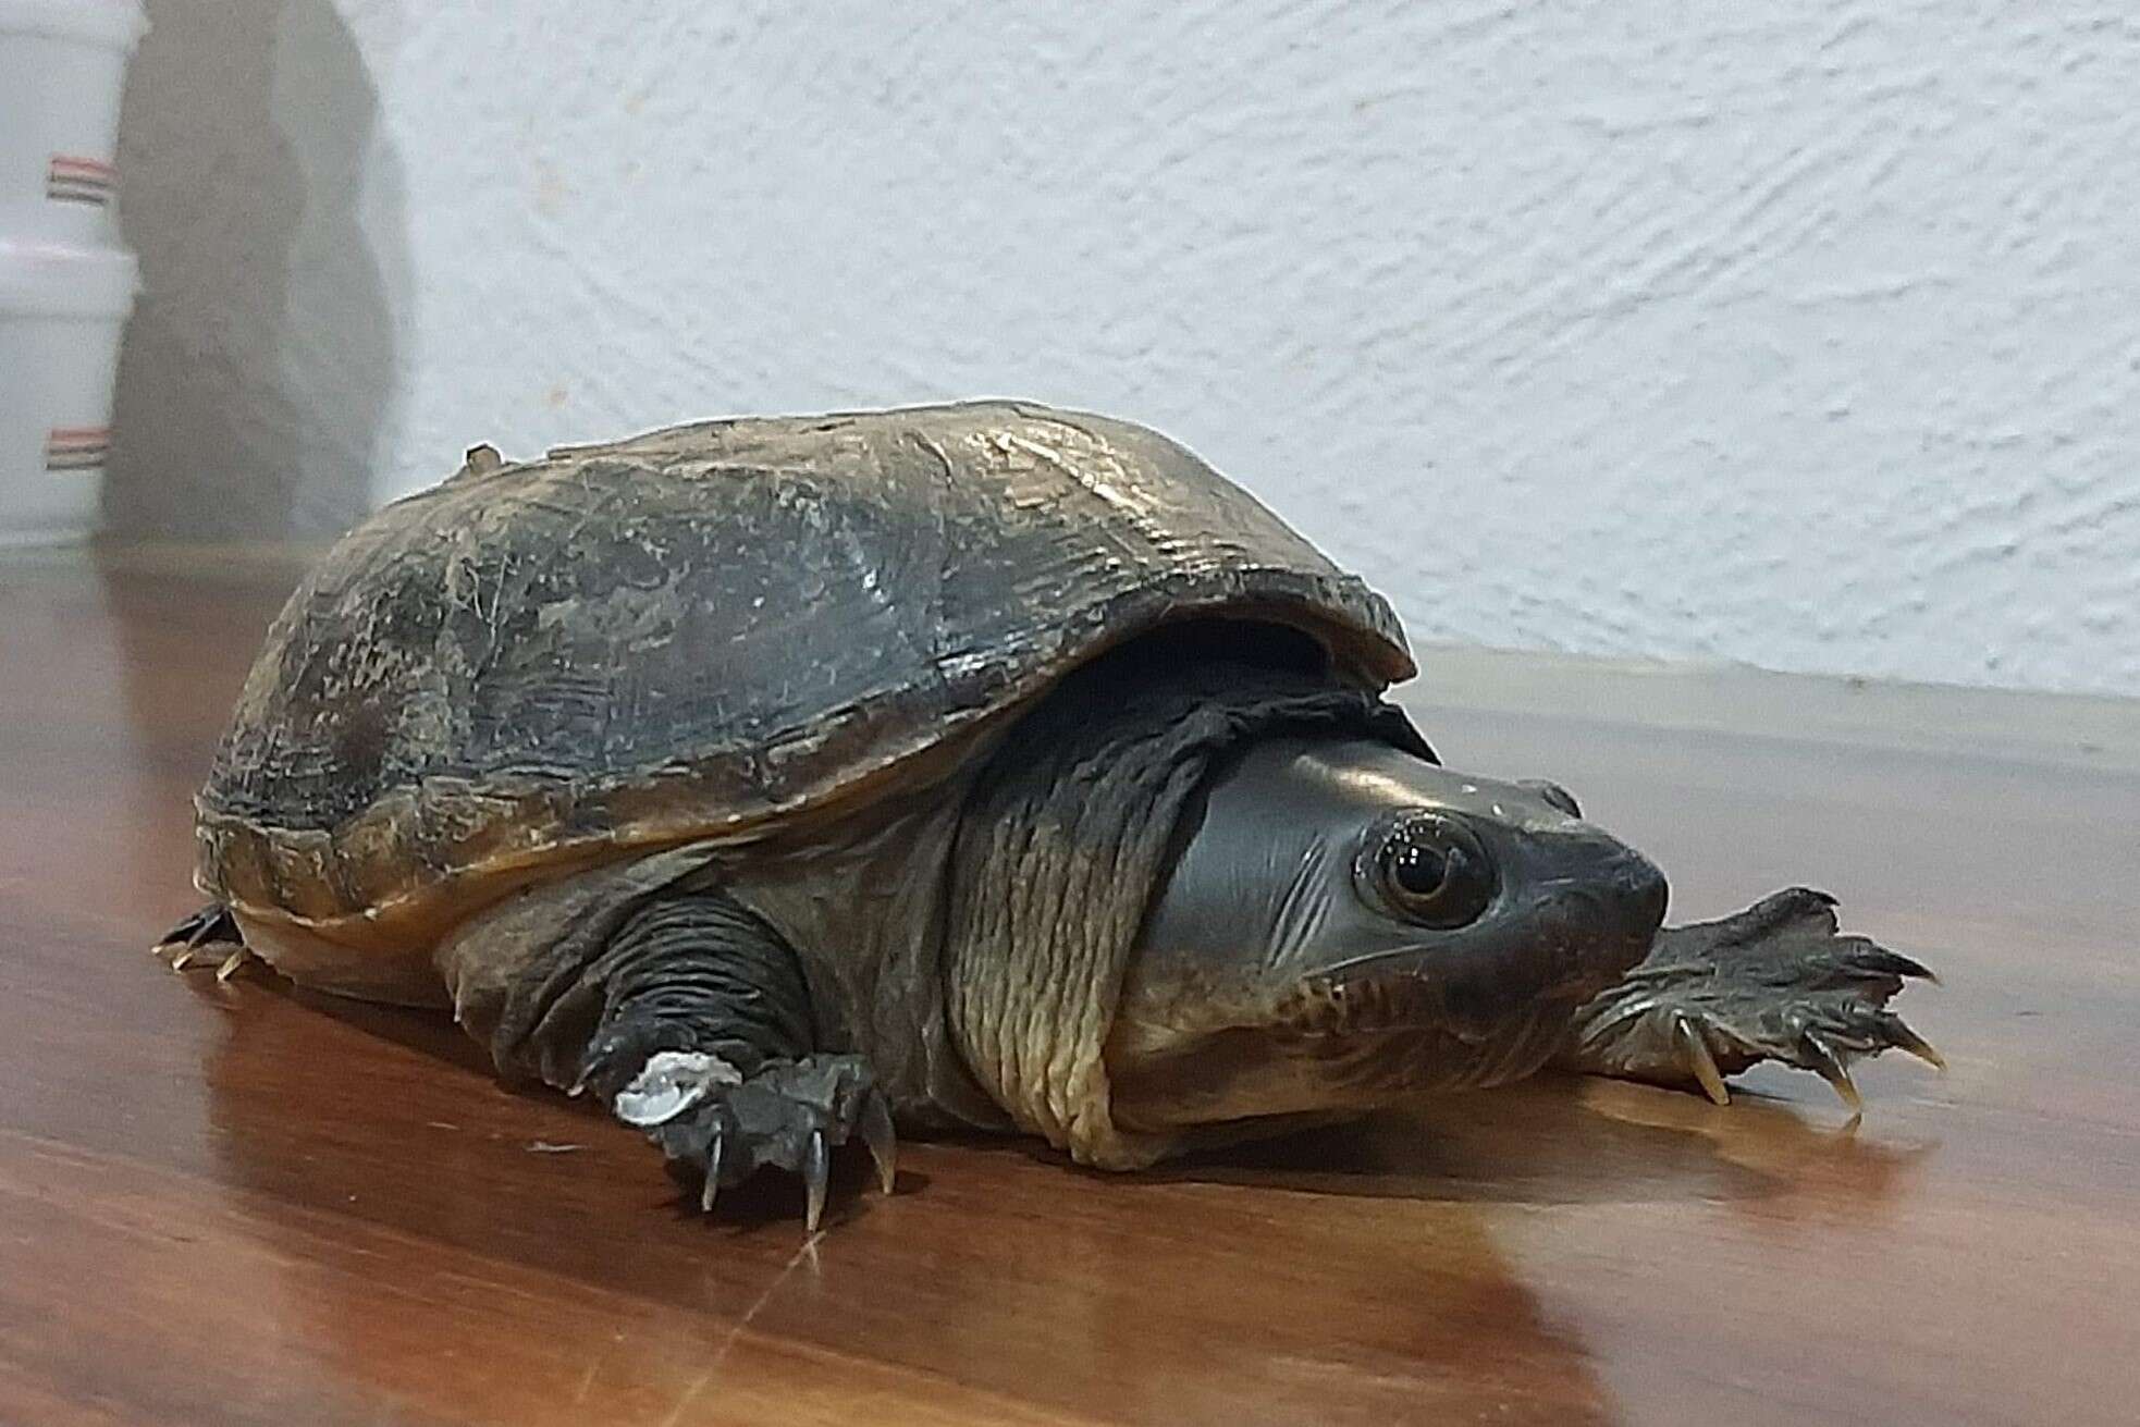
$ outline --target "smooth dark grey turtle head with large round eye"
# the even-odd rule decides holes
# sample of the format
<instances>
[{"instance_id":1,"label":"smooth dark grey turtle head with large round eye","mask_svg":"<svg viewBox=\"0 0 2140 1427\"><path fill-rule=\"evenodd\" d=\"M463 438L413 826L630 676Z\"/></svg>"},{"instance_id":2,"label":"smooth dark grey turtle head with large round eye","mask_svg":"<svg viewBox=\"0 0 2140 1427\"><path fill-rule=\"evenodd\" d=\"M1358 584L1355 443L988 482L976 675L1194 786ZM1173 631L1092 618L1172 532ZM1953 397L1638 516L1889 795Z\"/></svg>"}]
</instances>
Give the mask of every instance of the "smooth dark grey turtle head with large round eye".
<instances>
[{"instance_id":1,"label":"smooth dark grey turtle head with large round eye","mask_svg":"<svg viewBox=\"0 0 2140 1427\"><path fill-rule=\"evenodd\" d=\"M1175 832L1106 1042L1126 1130L1355 1113L1537 1070L1665 879L1552 783L1271 738Z\"/></svg>"}]
</instances>

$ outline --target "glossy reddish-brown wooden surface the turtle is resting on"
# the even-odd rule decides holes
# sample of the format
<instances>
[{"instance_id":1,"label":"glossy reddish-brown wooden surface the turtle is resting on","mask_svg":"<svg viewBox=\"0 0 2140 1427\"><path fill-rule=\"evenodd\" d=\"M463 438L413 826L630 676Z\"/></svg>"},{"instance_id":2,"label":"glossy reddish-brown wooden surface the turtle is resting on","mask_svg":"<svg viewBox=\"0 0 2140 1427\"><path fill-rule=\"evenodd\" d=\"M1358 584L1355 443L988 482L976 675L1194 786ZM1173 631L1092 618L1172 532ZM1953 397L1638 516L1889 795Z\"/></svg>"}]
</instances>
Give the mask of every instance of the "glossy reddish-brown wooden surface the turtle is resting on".
<instances>
[{"instance_id":1,"label":"glossy reddish-brown wooden surface the turtle is resting on","mask_svg":"<svg viewBox=\"0 0 2140 1427\"><path fill-rule=\"evenodd\" d=\"M4 1423L2140 1421L2140 708L1725 678L1671 727L1622 717L1669 680L1509 663L1421 702L1676 916L1810 881L1932 963L1952 1072L1864 1068L1855 1132L1761 1070L1149 1177L912 1145L805 1245L792 1183L700 1219L434 1018L150 961L289 582L173 569L0 563Z\"/></svg>"}]
</instances>

